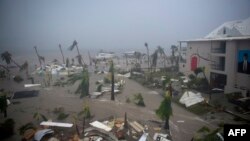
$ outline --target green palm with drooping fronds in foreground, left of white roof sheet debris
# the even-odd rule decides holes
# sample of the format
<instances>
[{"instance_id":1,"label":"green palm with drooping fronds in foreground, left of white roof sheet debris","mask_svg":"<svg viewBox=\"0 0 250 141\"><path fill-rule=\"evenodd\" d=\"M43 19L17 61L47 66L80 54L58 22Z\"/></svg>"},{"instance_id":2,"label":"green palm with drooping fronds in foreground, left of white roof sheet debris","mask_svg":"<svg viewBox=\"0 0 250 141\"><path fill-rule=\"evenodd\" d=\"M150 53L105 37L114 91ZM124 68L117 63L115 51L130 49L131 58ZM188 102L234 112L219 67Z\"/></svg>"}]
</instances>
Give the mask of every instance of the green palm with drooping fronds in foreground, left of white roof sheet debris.
<instances>
[{"instance_id":1,"label":"green palm with drooping fronds in foreground, left of white roof sheet debris","mask_svg":"<svg viewBox=\"0 0 250 141\"><path fill-rule=\"evenodd\" d=\"M169 130L169 118L173 114L171 106L170 90L166 92L164 100L161 102L161 105L156 110L156 114L162 120L165 120L164 128Z\"/></svg>"}]
</instances>

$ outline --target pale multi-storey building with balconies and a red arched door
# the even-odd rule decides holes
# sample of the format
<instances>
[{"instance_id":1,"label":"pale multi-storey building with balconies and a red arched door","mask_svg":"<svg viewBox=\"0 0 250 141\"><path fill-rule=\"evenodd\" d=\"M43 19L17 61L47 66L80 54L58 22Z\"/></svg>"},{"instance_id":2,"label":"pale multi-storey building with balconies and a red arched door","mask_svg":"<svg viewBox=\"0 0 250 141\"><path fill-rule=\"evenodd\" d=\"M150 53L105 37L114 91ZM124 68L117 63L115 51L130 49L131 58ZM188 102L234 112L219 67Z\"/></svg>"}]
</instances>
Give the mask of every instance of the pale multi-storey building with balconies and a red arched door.
<instances>
[{"instance_id":1,"label":"pale multi-storey building with balconies and a red arched door","mask_svg":"<svg viewBox=\"0 0 250 141\"><path fill-rule=\"evenodd\" d=\"M222 88L225 93L250 91L250 18L226 22L205 38L180 41L181 50L184 44L181 72L189 75L197 67L205 67L212 88Z\"/></svg>"}]
</instances>

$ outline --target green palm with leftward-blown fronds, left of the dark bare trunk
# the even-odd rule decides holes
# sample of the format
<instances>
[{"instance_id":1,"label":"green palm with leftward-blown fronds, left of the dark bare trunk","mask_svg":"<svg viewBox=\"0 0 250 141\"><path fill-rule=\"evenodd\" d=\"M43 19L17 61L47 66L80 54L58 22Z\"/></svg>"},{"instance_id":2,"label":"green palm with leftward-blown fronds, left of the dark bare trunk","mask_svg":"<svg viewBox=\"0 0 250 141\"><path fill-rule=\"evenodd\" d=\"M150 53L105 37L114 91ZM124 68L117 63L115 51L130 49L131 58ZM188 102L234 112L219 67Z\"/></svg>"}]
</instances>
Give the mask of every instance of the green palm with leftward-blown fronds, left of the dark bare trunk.
<instances>
[{"instance_id":1,"label":"green palm with leftward-blown fronds, left of the dark bare trunk","mask_svg":"<svg viewBox=\"0 0 250 141\"><path fill-rule=\"evenodd\" d=\"M75 93L80 93L80 98L82 98L84 96L89 95L89 73L86 69L83 69L81 73L69 75L68 84L75 84L79 80L81 82L77 87Z\"/></svg>"}]
</instances>

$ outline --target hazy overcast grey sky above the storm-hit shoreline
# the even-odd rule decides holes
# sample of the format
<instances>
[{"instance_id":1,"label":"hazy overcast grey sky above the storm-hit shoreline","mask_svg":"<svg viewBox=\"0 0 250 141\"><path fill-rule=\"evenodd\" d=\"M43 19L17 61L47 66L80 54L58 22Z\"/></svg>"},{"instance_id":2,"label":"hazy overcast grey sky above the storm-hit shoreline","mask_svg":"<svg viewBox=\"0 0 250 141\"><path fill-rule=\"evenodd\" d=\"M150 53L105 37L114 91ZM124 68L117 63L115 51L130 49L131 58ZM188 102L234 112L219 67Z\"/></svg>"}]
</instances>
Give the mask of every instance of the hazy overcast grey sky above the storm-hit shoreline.
<instances>
[{"instance_id":1,"label":"hazy overcast grey sky above the storm-hit shoreline","mask_svg":"<svg viewBox=\"0 0 250 141\"><path fill-rule=\"evenodd\" d=\"M1 0L0 51L169 48L247 17L249 0Z\"/></svg>"}]
</instances>

